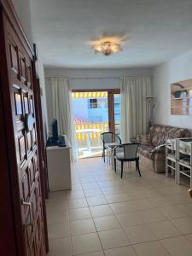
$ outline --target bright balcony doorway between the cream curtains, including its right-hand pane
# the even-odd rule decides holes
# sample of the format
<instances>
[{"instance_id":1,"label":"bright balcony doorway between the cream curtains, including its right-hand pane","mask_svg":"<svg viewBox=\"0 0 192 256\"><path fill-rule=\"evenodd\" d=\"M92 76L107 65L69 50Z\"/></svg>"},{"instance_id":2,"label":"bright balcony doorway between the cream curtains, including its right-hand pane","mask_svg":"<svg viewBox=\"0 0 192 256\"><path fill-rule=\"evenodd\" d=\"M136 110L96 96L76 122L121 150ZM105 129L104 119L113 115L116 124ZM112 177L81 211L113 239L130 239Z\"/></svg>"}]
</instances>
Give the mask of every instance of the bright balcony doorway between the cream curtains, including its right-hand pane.
<instances>
[{"instance_id":1,"label":"bright balcony doorway between the cream curtains, including its right-hand pane","mask_svg":"<svg viewBox=\"0 0 192 256\"><path fill-rule=\"evenodd\" d=\"M102 156L101 134L119 134L119 90L73 90L73 122L79 158Z\"/></svg>"}]
</instances>

